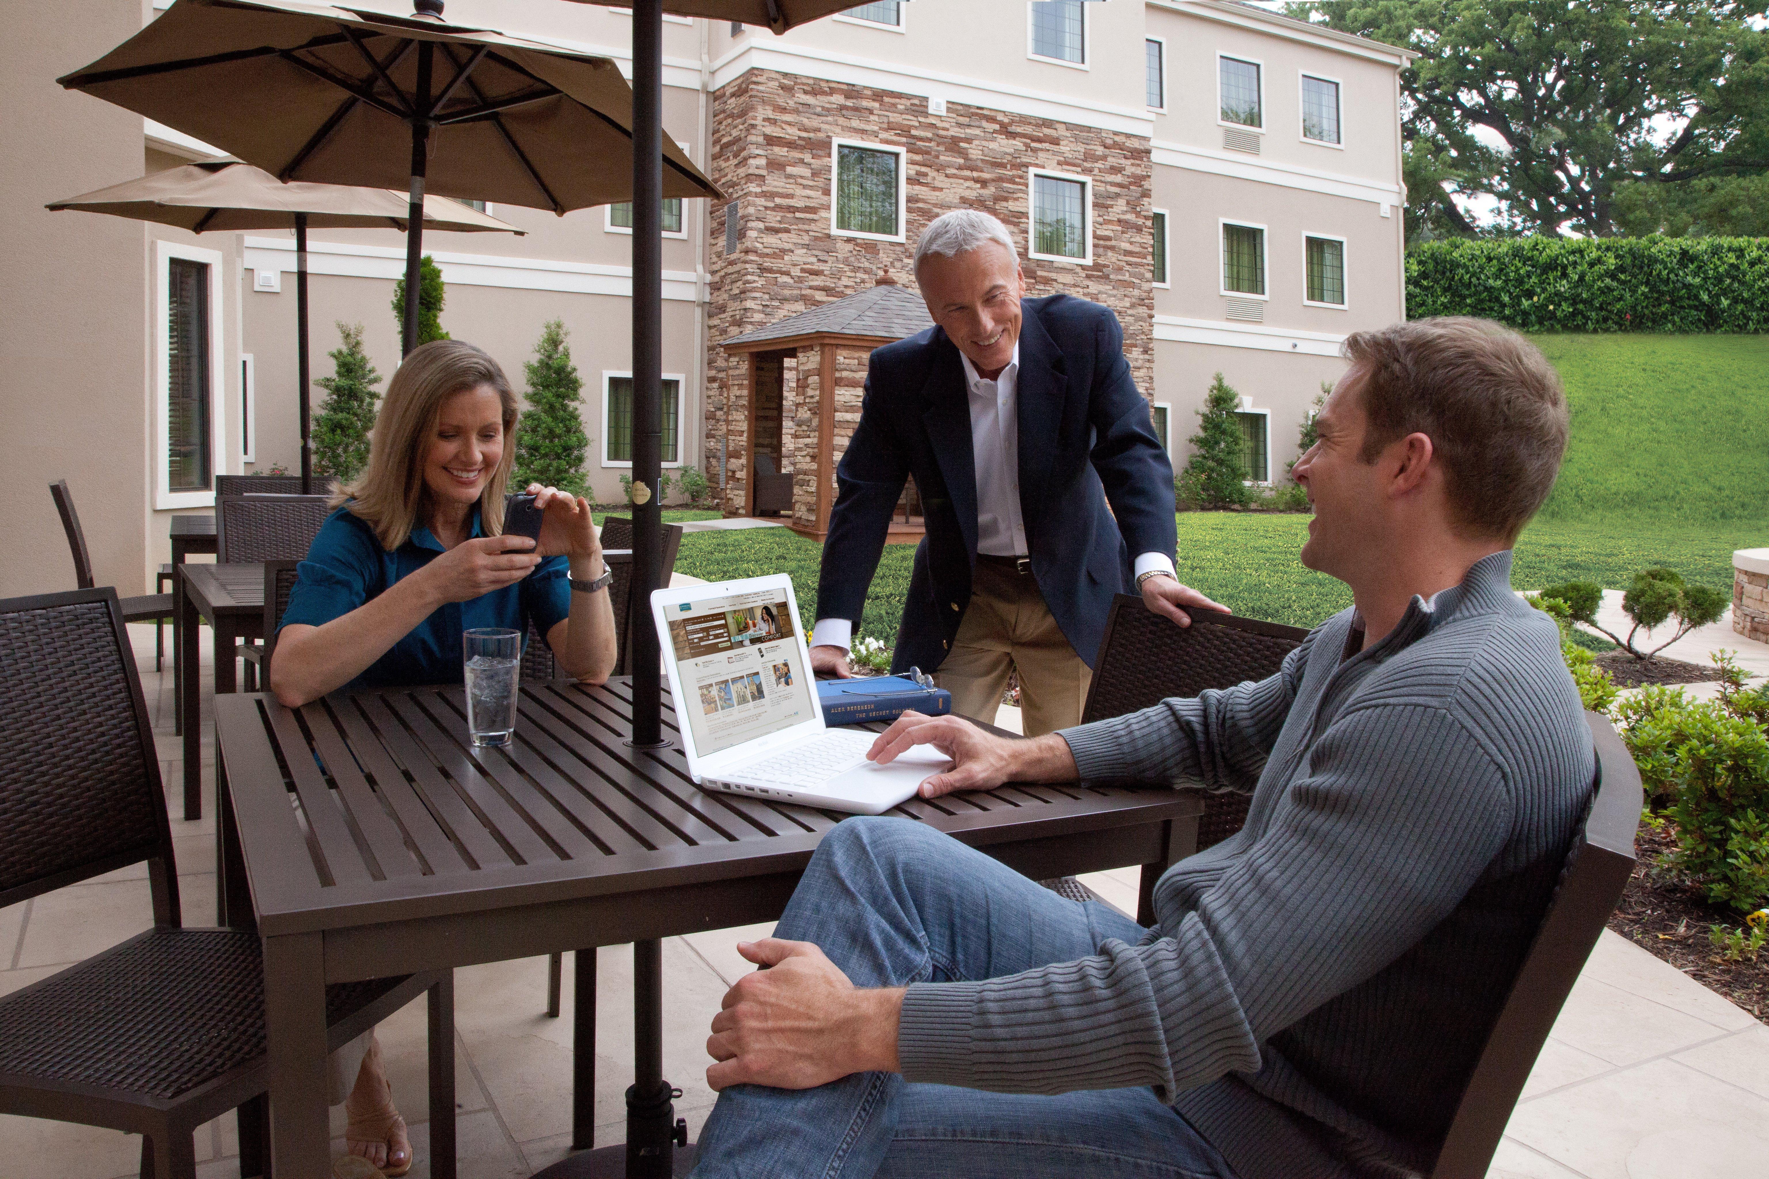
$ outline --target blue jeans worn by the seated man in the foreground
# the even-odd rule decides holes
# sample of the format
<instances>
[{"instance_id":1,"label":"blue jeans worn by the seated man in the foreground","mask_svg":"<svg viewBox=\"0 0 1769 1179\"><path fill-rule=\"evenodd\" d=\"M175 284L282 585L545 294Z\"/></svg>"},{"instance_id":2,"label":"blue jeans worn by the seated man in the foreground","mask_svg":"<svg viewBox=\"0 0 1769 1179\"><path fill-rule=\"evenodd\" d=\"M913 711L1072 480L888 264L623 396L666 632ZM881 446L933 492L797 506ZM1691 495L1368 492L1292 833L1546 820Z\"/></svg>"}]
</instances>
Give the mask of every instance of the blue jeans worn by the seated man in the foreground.
<instances>
[{"instance_id":1,"label":"blue jeans worn by the seated man in the foreground","mask_svg":"<svg viewBox=\"0 0 1769 1179\"><path fill-rule=\"evenodd\" d=\"M823 838L775 935L816 942L856 986L902 986L1074 962L1111 937L1134 944L1143 926L918 822L849 818ZM803 1091L732 1085L701 1133L693 1174L1233 1179L1150 1089L1001 1094L897 1073Z\"/></svg>"}]
</instances>

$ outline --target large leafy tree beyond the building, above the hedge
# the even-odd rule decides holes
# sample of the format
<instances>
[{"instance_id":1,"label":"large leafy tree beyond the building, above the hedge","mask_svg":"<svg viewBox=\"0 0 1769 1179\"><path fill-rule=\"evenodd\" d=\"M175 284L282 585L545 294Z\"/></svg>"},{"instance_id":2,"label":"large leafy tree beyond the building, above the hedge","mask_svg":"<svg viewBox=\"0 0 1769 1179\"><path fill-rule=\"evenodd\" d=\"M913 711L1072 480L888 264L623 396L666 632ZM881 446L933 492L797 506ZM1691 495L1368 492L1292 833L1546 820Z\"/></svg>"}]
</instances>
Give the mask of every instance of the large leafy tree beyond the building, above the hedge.
<instances>
[{"instance_id":1,"label":"large leafy tree beyond the building, above the hedge","mask_svg":"<svg viewBox=\"0 0 1769 1179\"><path fill-rule=\"evenodd\" d=\"M1769 170L1769 32L1735 0L1304 0L1421 53L1401 72L1408 226L1617 232L1622 186ZM1486 141L1477 136L1486 131ZM1497 145L1495 145L1497 143Z\"/></svg>"}]
</instances>

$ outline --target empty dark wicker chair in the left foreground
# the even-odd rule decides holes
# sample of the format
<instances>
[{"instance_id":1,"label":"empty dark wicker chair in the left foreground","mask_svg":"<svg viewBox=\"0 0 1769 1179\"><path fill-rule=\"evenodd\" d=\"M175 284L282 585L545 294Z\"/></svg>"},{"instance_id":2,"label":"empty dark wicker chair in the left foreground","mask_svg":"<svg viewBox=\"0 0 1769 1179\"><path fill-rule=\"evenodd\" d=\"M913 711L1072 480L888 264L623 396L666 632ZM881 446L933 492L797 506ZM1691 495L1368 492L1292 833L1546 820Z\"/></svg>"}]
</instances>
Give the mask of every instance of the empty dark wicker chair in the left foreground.
<instances>
[{"instance_id":1,"label":"empty dark wicker chair in the left foreground","mask_svg":"<svg viewBox=\"0 0 1769 1179\"><path fill-rule=\"evenodd\" d=\"M257 930L182 928L154 734L110 587L0 601L0 905L147 861L154 928L0 997L0 1112L143 1135L142 1174L193 1179L191 1133L239 1110L264 1174ZM338 1048L430 993L430 1115L455 1119L449 972L327 988Z\"/></svg>"}]
</instances>

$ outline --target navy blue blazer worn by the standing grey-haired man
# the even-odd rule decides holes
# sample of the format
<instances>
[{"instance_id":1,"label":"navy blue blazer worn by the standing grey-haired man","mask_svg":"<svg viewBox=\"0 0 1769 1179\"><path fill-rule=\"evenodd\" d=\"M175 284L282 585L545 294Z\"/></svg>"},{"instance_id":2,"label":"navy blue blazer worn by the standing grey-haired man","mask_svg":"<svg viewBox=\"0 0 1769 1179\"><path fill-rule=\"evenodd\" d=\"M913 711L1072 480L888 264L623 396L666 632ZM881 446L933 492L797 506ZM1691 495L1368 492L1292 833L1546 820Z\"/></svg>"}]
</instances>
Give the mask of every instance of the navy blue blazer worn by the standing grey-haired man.
<instances>
[{"instance_id":1,"label":"navy blue blazer worn by the standing grey-haired man","mask_svg":"<svg viewBox=\"0 0 1769 1179\"><path fill-rule=\"evenodd\" d=\"M1173 555L1173 465L1123 359L1118 316L1070 295L1022 299L1021 309L1026 544L1045 605L1091 666L1111 597L1130 585L1130 562ZM959 350L939 327L872 354L860 424L835 468L819 619L853 619L860 629L907 475L922 493L927 536L915 553L892 668L930 672L959 633L976 562L969 391Z\"/></svg>"}]
</instances>

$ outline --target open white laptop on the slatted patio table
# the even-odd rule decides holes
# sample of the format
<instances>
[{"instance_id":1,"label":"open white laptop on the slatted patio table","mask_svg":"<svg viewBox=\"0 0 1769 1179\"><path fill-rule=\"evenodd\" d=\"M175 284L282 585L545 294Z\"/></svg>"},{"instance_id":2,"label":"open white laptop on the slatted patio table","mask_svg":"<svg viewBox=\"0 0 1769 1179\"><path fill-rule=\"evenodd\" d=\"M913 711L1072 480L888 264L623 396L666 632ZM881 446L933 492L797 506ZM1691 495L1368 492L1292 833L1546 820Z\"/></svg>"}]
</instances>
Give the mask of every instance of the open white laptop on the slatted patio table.
<instances>
[{"instance_id":1,"label":"open white laptop on the slatted patio table","mask_svg":"<svg viewBox=\"0 0 1769 1179\"><path fill-rule=\"evenodd\" d=\"M793 578L651 594L688 772L708 790L881 815L952 762L915 746L867 760L874 734L826 728Z\"/></svg>"}]
</instances>

